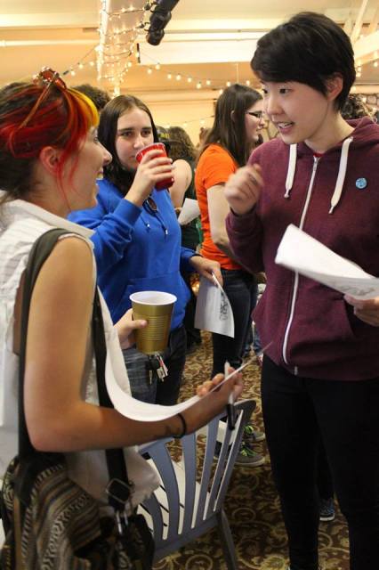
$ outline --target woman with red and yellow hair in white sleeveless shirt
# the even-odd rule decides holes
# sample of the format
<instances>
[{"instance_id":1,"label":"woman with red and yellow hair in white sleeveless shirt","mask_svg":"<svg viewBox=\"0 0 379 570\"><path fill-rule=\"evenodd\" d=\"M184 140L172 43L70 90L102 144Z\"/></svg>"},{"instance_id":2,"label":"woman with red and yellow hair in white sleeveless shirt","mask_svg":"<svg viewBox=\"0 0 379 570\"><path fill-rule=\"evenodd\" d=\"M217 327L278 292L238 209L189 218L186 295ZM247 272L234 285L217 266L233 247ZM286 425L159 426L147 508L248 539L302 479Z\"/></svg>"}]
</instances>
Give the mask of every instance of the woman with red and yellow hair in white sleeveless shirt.
<instances>
[{"instance_id":1,"label":"woman with red and yellow hair in white sleeveless shirt","mask_svg":"<svg viewBox=\"0 0 379 570\"><path fill-rule=\"evenodd\" d=\"M44 262L29 308L26 426L37 450L65 453L69 476L106 505L104 449L178 435L185 423L189 431L196 429L222 410L236 383L230 379L184 411L185 423L178 416L141 422L99 406L91 334L96 286L92 232L66 218L69 212L96 206L96 179L111 156L98 140L93 103L56 78L44 70L35 84L0 90L0 477L18 452L24 269L34 242L61 228L68 233ZM117 338L102 298L101 310L111 362L107 382L117 376L128 391L119 353L120 341L125 343L133 325L121 315ZM238 395L240 387L235 391ZM135 485L133 501L138 502L157 486L157 476L133 449L125 453Z\"/></svg>"}]
</instances>

